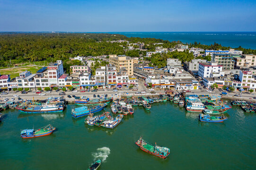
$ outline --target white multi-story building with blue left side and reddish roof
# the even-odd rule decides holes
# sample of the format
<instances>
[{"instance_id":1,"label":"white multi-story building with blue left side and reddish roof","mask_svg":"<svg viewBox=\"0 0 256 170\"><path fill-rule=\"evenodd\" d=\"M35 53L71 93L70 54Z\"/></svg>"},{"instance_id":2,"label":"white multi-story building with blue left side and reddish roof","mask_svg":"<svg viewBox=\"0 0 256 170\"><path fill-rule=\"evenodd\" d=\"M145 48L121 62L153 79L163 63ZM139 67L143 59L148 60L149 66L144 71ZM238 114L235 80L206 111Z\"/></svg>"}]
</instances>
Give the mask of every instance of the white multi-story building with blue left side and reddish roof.
<instances>
[{"instance_id":1,"label":"white multi-story building with blue left side and reddish roof","mask_svg":"<svg viewBox=\"0 0 256 170\"><path fill-rule=\"evenodd\" d=\"M198 76L210 77L210 74L222 71L223 66L218 63L199 63Z\"/></svg>"}]
</instances>

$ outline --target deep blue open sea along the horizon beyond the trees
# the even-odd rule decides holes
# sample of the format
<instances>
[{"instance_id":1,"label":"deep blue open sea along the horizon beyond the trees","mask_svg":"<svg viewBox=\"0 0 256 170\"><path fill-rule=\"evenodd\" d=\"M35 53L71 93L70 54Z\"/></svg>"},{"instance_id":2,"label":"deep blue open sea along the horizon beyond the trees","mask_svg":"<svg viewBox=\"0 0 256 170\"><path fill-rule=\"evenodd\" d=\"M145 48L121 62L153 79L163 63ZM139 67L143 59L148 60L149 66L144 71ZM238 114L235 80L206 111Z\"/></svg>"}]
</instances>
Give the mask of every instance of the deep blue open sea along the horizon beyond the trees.
<instances>
[{"instance_id":1,"label":"deep blue open sea along the horizon beyond the trees","mask_svg":"<svg viewBox=\"0 0 256 170\"><path fill-rule=\"evenodd\" d=\"M168 41L200 42L211 45L214 42L232 48L256 49L256 32L109 32L127 37L159 38Z\"/></svg>"}]
</instances>

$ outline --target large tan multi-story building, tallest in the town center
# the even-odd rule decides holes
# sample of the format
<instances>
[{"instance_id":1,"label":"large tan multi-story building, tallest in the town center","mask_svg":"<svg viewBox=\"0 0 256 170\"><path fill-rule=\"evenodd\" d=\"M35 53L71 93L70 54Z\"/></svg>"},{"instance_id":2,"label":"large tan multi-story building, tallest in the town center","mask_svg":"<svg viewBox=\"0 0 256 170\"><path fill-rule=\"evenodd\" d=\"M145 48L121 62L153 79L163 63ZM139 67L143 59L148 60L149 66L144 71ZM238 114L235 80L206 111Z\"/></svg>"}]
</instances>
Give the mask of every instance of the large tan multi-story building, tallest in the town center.
<instances>
[{"instance_id":1,"label":"large tan multi-story building, tallest in the town center","mask_svg":"<svg viewBox=\"0 0 256 170\"><path fill-rule=\"evenodd\" d=\"M128 76L133 76L133 64L138 63L138 59L132 59L125 55L109 55L109 63L115 65L117 72L124 68L127 70Z\"/></svg>"}]
</instances>

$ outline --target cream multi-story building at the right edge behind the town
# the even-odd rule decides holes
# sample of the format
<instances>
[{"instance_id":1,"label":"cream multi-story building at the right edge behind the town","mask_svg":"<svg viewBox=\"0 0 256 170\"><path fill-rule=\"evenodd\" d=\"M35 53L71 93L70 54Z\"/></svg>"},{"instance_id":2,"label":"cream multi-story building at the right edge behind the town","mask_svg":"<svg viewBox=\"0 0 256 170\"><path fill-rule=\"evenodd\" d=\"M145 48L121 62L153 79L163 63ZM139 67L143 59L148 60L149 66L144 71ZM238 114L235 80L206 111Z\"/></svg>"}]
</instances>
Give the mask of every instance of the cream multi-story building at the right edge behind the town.
<instances>
[{"instance_id":1,"label":"cream multi-story building at the right edge behind the town","mask_svg":"<svg viewBox=\"0 0 256 170\"><path fill-rule=\"evenodd\" d=\"M234 58L235 60L234 67L237 69L240 69L241 67L255 66L256 65L255 58L256 58L256 55L243 54L239 58Z\"/></svg>"}]
</instances>

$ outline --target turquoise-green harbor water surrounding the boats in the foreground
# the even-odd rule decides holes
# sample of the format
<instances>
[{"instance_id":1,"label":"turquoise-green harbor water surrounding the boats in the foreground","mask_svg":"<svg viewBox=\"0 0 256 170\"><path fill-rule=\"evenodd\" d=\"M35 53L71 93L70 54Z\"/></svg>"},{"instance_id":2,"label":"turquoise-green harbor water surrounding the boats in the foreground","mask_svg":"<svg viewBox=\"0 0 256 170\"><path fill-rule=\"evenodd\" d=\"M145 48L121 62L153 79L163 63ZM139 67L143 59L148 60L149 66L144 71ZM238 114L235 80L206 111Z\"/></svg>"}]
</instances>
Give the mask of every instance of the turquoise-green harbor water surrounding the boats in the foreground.
<instances>
[{"instance_id":1,"label":"turquoise-green harbor water surrounding the boats in the foreground","mask_svg":"<svg viewBox=\"0 0 256 170\"><path fill-rule=\"evenodd\" d=\"M198 121L172 102L154 103L148 111L134 106L114 129L89 127L73 119L68 105L63 113L21 114L5 110L0 122L1 170L85 170L102 159L99 170L255 170L256 113L234 106L224 123ZM110 111L110 106L106 108ZM100 114L100 113L98 113ZM21 139L20 129L51 124L50 136ZM163 160L145 153L134 142L170 148Z\"/></svg>"}]
</instances>

